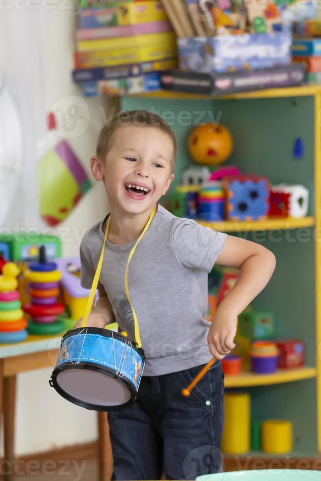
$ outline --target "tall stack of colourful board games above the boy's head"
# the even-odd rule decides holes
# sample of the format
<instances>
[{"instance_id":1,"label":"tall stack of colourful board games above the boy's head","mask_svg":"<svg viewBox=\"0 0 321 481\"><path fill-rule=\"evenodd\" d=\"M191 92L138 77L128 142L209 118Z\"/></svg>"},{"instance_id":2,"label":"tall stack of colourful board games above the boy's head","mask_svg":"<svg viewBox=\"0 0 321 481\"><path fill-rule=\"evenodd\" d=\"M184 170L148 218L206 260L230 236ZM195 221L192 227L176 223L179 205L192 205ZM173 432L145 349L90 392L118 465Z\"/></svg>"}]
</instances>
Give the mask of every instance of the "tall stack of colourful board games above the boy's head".
<instances>
[{"instance_id":1,"label":"tall stack of colourful board games above the boy's head","mask_svg":"<svg viewBox=\"0 0 321 481\"><path fill-rule=\"evenodd\" d=\"M176 34L160 1L82 1L73 80L84 95L159 89L159 72L176 66Z\"/></svg>"}]
</instances>

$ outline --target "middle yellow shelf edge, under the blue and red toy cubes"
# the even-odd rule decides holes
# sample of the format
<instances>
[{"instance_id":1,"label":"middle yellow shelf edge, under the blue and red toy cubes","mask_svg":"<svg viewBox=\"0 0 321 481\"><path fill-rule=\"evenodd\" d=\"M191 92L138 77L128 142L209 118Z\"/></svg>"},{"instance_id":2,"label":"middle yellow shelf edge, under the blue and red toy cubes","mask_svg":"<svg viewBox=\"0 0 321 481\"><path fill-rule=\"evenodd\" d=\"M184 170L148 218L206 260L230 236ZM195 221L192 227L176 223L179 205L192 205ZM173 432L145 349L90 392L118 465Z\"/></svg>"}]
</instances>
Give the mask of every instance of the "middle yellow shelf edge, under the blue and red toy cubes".
<instances>
[{"instance_id":1,"label":"middle yellow shelf edge, under the blue and red toy cubes","mask_svg":"<svg viewBox=\"0 0 321 481\"><path fill-rule=\"evenodd\" d=\"M210 222L207 220L197 220L197 223L205 227L211 227L216 231L224 232L247 232L257 230L276 230L276 229L297 229L300 227L313 227L315 225L314 217L290 218L285 219L265 219L258 221L240 221L223 220L219 222Z\"/></svg>"}]
</instances>

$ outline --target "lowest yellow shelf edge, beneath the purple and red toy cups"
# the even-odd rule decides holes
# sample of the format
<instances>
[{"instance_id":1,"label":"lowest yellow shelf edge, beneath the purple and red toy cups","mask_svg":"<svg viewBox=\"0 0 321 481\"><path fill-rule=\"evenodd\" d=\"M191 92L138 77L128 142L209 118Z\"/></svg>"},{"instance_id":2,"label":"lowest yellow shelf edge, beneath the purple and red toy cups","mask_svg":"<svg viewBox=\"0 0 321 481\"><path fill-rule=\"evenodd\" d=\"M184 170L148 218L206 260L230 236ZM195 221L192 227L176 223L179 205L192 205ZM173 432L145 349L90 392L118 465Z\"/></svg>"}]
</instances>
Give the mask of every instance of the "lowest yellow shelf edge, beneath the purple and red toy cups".
<instances>
[{"instance_id":1,"label":"lowest yellow shelf edge, beneath the purple and red toy cups","mask_svg":"<svg viewBox=\"0 0 321 481\"><path fill-rule=\"evenodd\" d=\"M317 376L317 368L302 367L297 369L278 369L274 374L254 374L244 372L237 376L226 375L225 388L267 386L286 382L311 379Z\"/></svg>"}]
</instances>

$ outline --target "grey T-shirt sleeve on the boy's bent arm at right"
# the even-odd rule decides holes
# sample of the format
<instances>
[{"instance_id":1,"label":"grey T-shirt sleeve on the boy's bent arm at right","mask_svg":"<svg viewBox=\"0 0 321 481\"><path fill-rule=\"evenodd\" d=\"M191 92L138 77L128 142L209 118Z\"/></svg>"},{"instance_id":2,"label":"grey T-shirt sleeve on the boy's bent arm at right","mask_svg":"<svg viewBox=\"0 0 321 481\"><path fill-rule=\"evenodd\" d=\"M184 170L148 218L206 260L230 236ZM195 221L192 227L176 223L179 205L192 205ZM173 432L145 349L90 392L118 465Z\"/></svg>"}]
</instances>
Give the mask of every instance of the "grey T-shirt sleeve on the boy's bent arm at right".
<instances>
[{"instance_id":1,"label":"grey T-shirt sleeve on the boy's bent arm at right","mask_svg":"<svg viewBox=\"0 0 321 481\"><path fill-rule=\"evenodd\" d=\"M195 220L182 219L173 229L173 250L179 263L211 272L227 234L204 227Z\"/></svg>"}]
</instances>

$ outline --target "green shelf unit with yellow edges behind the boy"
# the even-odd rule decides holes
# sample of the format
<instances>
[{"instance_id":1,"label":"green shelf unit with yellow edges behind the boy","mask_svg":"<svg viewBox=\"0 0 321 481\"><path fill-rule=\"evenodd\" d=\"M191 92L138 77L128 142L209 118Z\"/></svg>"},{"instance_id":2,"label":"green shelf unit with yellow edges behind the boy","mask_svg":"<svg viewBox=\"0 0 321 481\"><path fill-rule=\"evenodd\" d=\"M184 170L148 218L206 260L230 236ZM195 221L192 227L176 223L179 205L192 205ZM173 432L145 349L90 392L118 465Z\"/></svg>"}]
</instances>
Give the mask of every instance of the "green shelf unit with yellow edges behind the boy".
<instances>
[{"instance_id":1,"label":"green shelf unit with yellow edges behind the boy","mask_svg":"<svg viewBox=\"0 0 321 481\"><path fill-rule=\"evenodd\" d=\"M188 133L193 126L213 120L225 125L234 138L235 149L227 164L238 165L245 174L266 176L271 183L298 183L309 188L310 208L305 218L197 221L262 242L274 252L275 273L253 306L274 310L276 337L305 341L306 366L272 375L244 372L225 376L225 388L249 392L254 417L290 419L294 453L315 455L321 451L321 86L219 98L167 91L122 98L122 110L137 108L162 115L178 139L175 179L161 199L164 205L192 163L187 152ZM297 137L304 142L301 160L292 156Z\"/></svg>"}]
</instances>

